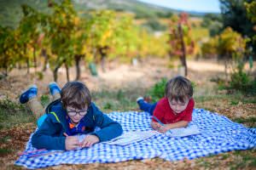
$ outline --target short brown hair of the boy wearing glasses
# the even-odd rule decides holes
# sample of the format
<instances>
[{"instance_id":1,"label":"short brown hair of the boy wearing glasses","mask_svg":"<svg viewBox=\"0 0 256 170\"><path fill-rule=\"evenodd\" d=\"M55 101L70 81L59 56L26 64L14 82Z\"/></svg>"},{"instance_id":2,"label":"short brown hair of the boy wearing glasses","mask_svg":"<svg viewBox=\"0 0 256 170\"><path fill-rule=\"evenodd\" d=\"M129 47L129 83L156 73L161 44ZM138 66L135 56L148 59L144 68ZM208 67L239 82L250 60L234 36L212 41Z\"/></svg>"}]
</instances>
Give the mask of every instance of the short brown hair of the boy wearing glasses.
<instances>
[{"instance_id":1,"label":"short brown hair of the boy wearing glasses","mask_svg":"<svg viewBox=\"0 0 256 170\"><path fill-rule=\"evenodd\" d=\"M67 82L61 89L61 101L65 108L82 110L90 105L90 91L83 82Z\"/></svg>"}]
</instances>

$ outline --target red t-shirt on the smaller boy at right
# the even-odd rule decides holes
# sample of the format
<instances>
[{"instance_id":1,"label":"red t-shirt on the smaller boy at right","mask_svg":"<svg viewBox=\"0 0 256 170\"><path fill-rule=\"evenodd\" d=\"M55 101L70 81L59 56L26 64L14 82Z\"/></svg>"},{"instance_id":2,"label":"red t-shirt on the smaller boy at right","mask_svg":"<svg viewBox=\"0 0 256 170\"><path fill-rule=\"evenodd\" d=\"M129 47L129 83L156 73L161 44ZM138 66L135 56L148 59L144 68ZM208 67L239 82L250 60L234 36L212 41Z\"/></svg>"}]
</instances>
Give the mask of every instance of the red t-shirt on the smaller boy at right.
<instances>
[{"instance_id":1,"label":"red t-shirt on the smaller boy at right","mask_svg":"<svg viewBox=\"0 0 256 170\"><path fill-rule=\"evenodd\" d=\"M157 102L153 115L156 116L156 118L158 118L160 122L164 124L180 122L180 121L191 122L194 105L195 105L194 99L193 98L189 99L189 104L187 105L187 108L184 111L175 115L174 111L172 111L172 108L169 105L168 99L162 98ZM152 120L156 122L153 118Z\"/></svg>"}]
</instances>

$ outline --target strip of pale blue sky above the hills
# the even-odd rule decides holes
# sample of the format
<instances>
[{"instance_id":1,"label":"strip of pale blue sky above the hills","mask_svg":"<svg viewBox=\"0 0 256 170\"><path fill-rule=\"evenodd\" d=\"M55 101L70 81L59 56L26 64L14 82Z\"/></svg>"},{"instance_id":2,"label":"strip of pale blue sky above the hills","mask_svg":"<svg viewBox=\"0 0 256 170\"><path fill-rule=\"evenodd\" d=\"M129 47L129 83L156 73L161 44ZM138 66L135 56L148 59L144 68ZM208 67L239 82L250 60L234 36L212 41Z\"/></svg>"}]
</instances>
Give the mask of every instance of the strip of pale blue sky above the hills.
<instances>
[{"instance_id":1,"label":"strip of pale blue sky above the hills","mask_svg":"<svg viewBox=\"0 0 256 170\"><path fill-rule=\"evenodd\" d=\"M139 0L159 6L206 13L220 13L218 0Z\"/></svg>"}]
</instances>

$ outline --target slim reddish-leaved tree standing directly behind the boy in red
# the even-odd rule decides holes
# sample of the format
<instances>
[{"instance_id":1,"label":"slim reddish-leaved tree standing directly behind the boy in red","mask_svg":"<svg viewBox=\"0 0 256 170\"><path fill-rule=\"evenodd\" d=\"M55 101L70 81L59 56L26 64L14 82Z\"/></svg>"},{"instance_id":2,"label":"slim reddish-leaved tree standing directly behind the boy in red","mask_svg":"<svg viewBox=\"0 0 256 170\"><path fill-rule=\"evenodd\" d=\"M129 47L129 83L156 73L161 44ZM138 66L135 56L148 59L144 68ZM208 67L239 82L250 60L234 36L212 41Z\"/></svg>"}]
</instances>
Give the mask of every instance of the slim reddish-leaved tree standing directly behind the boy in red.
<instances>
[{"instance_id":1,"label":"slim reddish-leaved tree standing directly behind the boy in red","mask_svg":"<svg viewBox=\"0 0 256 170\"><path fill-rule=\"evenodd\" d=\"M179 56L179 59L185 69L185 76L188 75L187 54L193 54L194 42L190 36L190 26L188 14L182 13L177 17L174 15L170 23L169 45L171 47L169 54Z\"/></svg>"}]
</instances>

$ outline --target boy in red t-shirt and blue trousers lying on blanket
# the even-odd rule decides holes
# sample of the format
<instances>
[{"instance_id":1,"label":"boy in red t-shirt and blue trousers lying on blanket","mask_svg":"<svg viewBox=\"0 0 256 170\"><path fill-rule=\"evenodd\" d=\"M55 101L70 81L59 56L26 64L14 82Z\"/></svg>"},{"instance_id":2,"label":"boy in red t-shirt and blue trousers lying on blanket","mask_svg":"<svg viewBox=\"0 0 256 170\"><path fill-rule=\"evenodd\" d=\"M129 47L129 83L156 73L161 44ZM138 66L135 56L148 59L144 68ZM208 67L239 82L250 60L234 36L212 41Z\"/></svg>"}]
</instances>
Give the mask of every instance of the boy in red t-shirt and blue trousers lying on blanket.
<instances>
[{"instance_id":1,"label":"boy in red t-shirt and blue trousers lying on blanket","mask_svg":"<svg viewBox=\"0 0 256 170\"><path fill-rule=\"evenodd\" d=\"M187 127L192 121L195 106L192 96L193 87L189 79L178 76L166 83L166 97L155 104L138 98L137 104L141 110L153 115L151 127L160 133L166 133L172 128Z\"/></svg>"}]
</instances>

